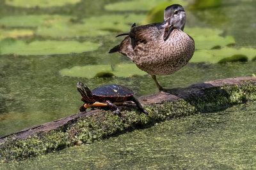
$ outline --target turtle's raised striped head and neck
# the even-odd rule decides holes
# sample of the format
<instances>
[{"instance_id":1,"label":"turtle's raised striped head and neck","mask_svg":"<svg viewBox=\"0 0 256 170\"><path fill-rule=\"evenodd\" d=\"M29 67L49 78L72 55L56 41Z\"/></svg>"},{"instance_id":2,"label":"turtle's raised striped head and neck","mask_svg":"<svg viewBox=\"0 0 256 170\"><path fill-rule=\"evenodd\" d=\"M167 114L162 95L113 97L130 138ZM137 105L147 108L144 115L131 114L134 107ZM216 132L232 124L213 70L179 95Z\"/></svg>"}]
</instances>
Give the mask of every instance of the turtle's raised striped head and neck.
<instances>
[{"instance_id":1,"label":"turtle's raised striped head and neck","mask_svg":"<svg viewBox=\"0 0 256 170\"><path fill-rule=\"evenodd\" d=\"M86 85L78 82L76 87L82 96L81 101L83 101L84 103L94 103L95 102L95 99L93 98L93 94L92 94L91 90Z\"/></svg>"}]
</instances>

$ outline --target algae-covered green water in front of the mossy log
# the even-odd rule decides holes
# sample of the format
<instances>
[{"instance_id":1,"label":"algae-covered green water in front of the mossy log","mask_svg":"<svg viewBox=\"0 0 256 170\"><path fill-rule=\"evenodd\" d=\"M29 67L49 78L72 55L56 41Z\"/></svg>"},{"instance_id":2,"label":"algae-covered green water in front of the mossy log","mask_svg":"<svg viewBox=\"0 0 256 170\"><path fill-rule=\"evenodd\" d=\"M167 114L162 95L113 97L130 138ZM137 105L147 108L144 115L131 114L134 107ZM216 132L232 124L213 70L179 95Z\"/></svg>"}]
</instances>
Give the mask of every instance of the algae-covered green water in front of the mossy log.
<instances>
[{"instance_id":1,"label":"algae-covered green water in front of the mossy log","mask_svg":"<svg viewBox=\"0 0 256 170\"><path fill-rule=\"evenodd\" d=\"M255 169L256 103L156 124L3 169Z\"/></svg>"}]
</instances>

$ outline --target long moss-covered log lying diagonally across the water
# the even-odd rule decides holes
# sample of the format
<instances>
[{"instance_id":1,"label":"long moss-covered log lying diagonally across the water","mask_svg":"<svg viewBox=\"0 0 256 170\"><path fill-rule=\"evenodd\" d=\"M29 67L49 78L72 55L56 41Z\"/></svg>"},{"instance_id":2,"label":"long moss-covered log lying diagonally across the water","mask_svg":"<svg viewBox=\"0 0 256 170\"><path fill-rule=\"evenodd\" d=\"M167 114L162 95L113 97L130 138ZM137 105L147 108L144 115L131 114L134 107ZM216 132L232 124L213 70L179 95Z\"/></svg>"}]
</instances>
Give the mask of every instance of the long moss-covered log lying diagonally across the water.
<instances>
[{"instance_id":1,"label":"long moss-covered log lying diagonally across the water","mask_svg":"<svg viewBox=\"0 0 256 170\"><path fill-rule=\"evenodd\" d=\"M92 143L174 117L216 111L256 100L256 78L226 78L170 89L171 95L156 93L139 97L149 114L125 104L120 115L111 111L80 112L47 124L29 127L0 138L0 159L24 159L68 146Z\"/></svg>"}]
</instances>

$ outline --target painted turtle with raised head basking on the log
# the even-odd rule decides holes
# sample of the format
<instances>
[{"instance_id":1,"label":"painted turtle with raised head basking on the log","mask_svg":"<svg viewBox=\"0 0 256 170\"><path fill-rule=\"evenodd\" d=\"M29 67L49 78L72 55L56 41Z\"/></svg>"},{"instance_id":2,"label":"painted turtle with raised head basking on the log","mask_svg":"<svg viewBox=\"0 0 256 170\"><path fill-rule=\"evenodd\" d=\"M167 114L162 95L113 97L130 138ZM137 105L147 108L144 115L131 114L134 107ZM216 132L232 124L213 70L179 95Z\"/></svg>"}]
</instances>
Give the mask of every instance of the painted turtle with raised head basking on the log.
<instances>
[{"instance_id":1,"label":"painted turtle with raised head basking on the log","mask_svg":"<svg viewBox=\"0 0 256 170\"><path fill-rule=\"evenodd\" d=\"M133 101L143 113L148 114L148 111L141 106L138 99L133 96L134 93L127 87L121 85L104 85L91 92L86 85L78 82L77 90L82 96L81 101L84 102L83 106L80 107L80 111L85 111L87 108L109 106L114 114L118 114L120 110L116 104Z\"/></svg>"}]
</instances>

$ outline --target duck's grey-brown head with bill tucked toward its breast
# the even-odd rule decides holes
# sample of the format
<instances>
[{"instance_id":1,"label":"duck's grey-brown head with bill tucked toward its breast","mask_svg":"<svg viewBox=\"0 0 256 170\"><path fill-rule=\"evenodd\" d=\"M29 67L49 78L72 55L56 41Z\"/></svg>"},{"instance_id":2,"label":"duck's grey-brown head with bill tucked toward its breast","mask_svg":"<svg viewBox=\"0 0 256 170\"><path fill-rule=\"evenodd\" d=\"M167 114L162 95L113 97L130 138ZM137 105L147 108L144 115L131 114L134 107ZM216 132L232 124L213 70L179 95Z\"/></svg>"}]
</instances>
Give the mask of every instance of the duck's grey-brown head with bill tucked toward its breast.
<instances>
[{"instance_id":1,"label":"duck's grey-brown head with bill tucked toward its breast","mask_svg":"<svg viewBox=\"0 0 256 170\"><path fill-rule=\"evenodd\" d=\"M186 22L186 13L180 4L172 4L164 10L164 22L158 29L164 30L164 41L168 39L173 29L183 31Z\"/></svg>"}]
</instances>

